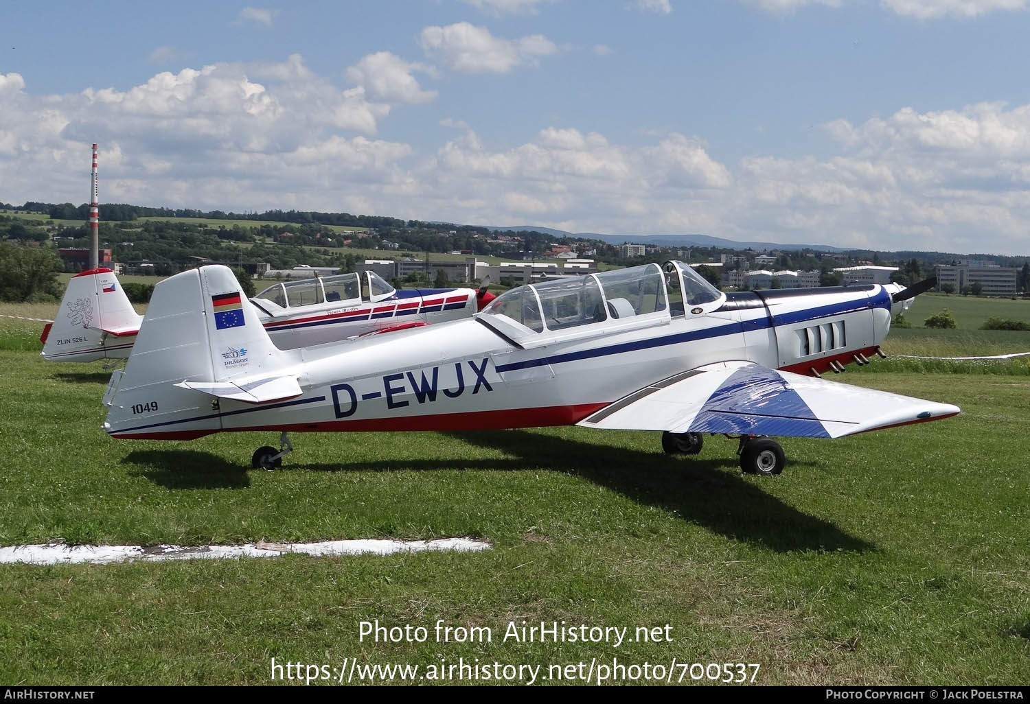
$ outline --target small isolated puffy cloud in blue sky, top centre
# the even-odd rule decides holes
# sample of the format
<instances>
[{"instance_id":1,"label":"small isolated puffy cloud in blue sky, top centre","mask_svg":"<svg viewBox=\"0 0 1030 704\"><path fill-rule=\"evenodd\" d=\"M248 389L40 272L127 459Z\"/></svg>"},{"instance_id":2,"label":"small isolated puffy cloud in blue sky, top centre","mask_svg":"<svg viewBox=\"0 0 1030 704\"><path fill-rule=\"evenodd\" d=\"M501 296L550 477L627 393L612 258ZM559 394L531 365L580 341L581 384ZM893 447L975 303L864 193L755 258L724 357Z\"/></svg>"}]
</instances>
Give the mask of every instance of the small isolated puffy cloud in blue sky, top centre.
<instances>
[{"instance_id":1,"label":"small isolated puffy cloud in blue sky, top centre","mask_svg":"<svg viewBox=\"0 0 1030 704\"><path fill-rule=\"evenodd\" d=\"M426 27L418 43L428 56L447 67L468 73L505 73L557 51L557 46L542 34L502 39L467 22Z\"/></svg>"}]
</instances>

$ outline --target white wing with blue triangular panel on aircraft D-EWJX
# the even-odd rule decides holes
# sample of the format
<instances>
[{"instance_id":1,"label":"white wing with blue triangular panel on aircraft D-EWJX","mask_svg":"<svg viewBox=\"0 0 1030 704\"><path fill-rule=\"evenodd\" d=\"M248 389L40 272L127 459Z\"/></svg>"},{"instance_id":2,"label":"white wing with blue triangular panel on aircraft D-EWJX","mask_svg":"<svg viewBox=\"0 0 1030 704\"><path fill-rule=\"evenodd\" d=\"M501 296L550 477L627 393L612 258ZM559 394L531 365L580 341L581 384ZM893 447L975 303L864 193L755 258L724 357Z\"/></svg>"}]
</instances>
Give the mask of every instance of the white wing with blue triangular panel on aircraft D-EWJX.
<instances>
[{"instance_id":1,"label":"white wing with blue triangular panel on aircraft D-EWJX","mask_svg":"<svg viewBox=\"0 0 1030 704\"><path fill-rule=\"evenodd\" d=\"M842 437L939 420L957 406L718 362L656 382L580 421L592 428L788 437Z\"/></svg>"}]
</instances>

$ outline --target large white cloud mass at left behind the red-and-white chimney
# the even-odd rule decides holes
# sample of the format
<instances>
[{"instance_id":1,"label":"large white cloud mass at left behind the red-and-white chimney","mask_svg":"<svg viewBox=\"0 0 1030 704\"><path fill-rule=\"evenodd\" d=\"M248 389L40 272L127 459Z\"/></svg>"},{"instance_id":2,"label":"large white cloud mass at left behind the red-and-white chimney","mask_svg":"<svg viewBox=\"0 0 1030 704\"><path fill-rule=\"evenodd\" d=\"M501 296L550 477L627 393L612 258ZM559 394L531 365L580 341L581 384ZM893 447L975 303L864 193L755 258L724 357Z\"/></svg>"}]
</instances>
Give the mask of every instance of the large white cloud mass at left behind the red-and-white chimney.
<instances>
[{"instance_id":1,"label":"large white cloud mass at left behind the red-and-white chimney","mask_svg":"<svg viewBox=\"0 0 1030 704\"><path fill-rule=\"evenodd\" d=\"M0 74L7 201L84 200L91 142L100 144L107 202L222 210L286 207L294 198L300 207L309 193L306 207L328 208L348 182L403 182L398 163L411 153L355 136L374 135L389 107L362 89L340 91L299 56L163 72L127 91L34 97L24 89L22 76ZM14 173L22 176L4 177Z\"/></svg>"}]
</instances>

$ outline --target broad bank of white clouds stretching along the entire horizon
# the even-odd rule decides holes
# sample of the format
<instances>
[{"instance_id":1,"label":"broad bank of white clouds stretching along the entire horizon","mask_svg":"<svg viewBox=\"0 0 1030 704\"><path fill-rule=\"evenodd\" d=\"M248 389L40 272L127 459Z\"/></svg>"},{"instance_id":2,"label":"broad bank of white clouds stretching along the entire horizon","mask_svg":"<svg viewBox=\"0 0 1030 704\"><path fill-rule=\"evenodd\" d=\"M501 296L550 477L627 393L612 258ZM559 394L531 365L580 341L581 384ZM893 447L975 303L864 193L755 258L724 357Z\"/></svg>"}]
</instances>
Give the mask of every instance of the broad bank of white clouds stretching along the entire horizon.
<instances>
[{"instance_id":1,"label":"broad bank of white clouds stretching along the entire horizon","mask_svg":"<svg viewBox=\"0 0 1030 704\"><path fill-rule=\"evenodd\" d=\"M399 67L399 80L383 84L393 94L371 80L341 90L299 55L71 95L34 96L22 75L0 74L0 200L85 202L98 142L108 203L1027 251L1030 105L837 119L824 126L836 146L825 159L757 153L723 164L696 136L629 143L569 124L502 147L456 116L436 118L453 130L443 143L416 149L377 137L391 109L409 109L411 65L385 56L386 69ZM364 69L390 75L377 66Z\"/></svg>"}]
</instances>

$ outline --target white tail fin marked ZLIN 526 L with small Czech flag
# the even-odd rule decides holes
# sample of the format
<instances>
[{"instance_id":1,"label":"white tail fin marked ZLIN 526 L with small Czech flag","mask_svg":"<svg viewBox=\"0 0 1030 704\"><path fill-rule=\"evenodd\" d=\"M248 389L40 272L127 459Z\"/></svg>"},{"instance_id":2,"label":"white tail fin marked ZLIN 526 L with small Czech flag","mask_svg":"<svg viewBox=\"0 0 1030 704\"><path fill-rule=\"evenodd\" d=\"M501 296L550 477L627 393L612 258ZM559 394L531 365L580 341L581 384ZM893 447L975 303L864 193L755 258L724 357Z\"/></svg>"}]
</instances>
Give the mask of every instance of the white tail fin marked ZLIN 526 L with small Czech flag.
<instances>
[{"instance_id":1,"label":"white tail fin marked ZLIN 526 L with small Czech flag","mask_svg":"<svg viewBox=\"0 0 1030 704\"><path fill-rule=\"evenodd\" d=\"M109 269L91 269L68 282L43 340L43 359L94 361L129 356L143 317Z\"/></svg>"}]
</instances>

